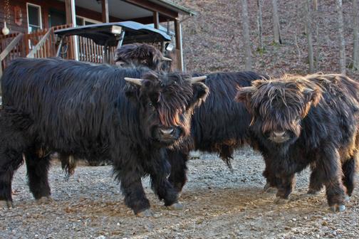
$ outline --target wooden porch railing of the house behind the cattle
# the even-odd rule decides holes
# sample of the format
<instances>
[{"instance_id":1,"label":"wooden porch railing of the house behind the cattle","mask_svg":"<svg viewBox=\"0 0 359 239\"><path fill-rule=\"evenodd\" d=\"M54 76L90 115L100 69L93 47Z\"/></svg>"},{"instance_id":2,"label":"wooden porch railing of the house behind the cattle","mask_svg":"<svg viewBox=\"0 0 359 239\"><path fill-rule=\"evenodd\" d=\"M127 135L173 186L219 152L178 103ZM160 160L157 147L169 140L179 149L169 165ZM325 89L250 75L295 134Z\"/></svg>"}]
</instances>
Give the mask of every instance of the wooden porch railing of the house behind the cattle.
<instances>
[{"instance_id":1,"label":"wooden porch railing of the house behind the cattle","mask_svg":"<svg viewBox=\"0 0 359 239\"><path fill-rule=\"evenodd\" d=\"M53 33L58 29L69 28L72 24L54 26L50 29L40 29L28 34L11 33L7 36L0 36L0 53L7 49L6 56L0 60L1 70L9 65L11 60L19 57L31 57L31 58L48 58L55 57L58 51L58 39ZM14 39L16 38L16 43ZM19 41L22 40L22 41ZM73 50L73 44L75 43L73 36L68 36L63 39L67 41L66 51L60 49L61 57L65 59L74 59L75 53ZM11 44L12 43L12 44ZM9 46L11 44L11 50ZM160 44L154 44L156 48L161 49ZM109 62L114 64L115 47L109 49ZM2 54L4 56L4 54ZM174 49L167 57L172 58L171 68L172 70L178 70L181 68L180 51ZM78 60L86 61L90 63L103 63L103 46L97 45L89 38L83 38L78 36Z\"/></svg>"}]
</instances>

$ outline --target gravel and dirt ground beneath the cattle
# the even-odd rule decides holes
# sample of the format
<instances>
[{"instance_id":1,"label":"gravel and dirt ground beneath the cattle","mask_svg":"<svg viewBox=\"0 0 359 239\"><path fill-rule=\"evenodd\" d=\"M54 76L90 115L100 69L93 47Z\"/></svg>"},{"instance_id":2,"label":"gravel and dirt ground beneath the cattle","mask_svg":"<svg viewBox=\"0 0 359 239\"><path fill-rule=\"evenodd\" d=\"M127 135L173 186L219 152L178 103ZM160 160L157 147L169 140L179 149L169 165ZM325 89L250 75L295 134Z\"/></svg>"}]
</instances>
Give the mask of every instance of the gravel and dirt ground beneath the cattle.
<instances>
[{"instance_id":1,"label":"gravel and dirt ground beneath the cattle","mask_svg":"<svg viewBox=\"0 0 359 239\"><path fill-rule=\"evenodd\" d=\"M308 171L297 176L285 205L262 193L264 164L242 149L234 171L213 154L189 161L182 211L169 211L144 186L159 218L137 218L123 203L110 166L78 166L68 181L59 164L50 173L55 201L38 205L26 185L26 167L14 177L16 208L0 209L0 238L359 238L359 189L343 213L333 213L324 191L306 196ZM358 181L358 177L357 177Z\"/></svg>"}]
</instances>

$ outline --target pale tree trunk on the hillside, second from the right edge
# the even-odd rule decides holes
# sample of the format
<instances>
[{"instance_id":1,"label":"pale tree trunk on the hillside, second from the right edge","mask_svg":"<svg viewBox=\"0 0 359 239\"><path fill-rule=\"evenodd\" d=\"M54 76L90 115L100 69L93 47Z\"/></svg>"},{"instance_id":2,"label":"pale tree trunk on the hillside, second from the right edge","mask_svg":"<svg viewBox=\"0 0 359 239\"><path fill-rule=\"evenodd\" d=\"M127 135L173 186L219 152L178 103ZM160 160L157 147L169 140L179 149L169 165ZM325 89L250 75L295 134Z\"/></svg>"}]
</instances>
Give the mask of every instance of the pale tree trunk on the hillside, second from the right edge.
<instances>
[{"instance_id":1,"label":"pale tree trunk on the hillside, second from the right edge","mask_svg":"<svg viewBox=\"0 0 359 239\"><path fill-rule=\"evenodd\" d=\"M338 12L339 68L340 73L345 74L345 38L342 0L335 0L335 5Z\"/></svg>"}]
</instances>

